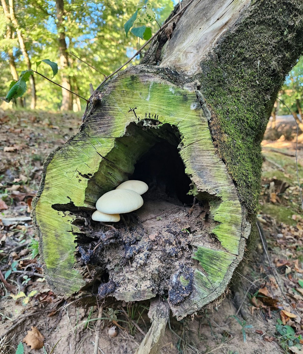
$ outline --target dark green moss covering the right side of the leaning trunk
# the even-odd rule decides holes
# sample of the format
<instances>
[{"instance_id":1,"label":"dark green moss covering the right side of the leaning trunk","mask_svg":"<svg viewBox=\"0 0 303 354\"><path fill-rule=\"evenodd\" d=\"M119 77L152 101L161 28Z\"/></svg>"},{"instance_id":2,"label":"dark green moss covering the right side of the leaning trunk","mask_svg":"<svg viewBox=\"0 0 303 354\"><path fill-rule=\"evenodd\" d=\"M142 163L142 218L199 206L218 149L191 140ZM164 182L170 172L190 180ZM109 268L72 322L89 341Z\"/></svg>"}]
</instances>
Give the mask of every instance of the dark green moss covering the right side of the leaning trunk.
<instances>
[{"instance_id":1,"label":"dark green moss covering the right side of the leaning trunk","mask_svg":"<svg viewBox=\"0 0 303 354\"><path fill-rule=\"evenodd\" d=\"M250 213L259 209L260 142L273 97L303 51L302 18L299 1L255 1L195 77L212 111L214 144Z\"/></svg>"}]
</instances>

